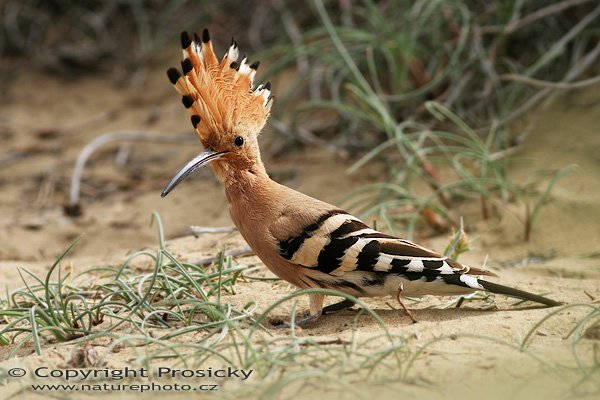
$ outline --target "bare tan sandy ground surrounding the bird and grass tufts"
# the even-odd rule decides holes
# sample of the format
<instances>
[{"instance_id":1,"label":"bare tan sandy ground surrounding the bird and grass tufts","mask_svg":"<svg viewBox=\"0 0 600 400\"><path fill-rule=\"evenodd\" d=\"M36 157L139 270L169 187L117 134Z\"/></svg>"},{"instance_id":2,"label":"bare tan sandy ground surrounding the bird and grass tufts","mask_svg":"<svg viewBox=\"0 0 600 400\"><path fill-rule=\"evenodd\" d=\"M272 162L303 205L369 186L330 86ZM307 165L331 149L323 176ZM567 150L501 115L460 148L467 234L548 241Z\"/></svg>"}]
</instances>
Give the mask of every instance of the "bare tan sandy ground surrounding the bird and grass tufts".
<instances>
[{"instance_id":1,"label":"bare tan sandy ground surrounding the bird and grass tufts","mask_svg":"<svg viewBox=\"0 0 600 400\"><path fill-rule=\"evenodd\" d=\"M215 249L244 244L235 233L189 235L189 225L231 225L222 188L208 171L180 185L168 199L159 196L172 173L200 150L199 145L135 144L125 166L115 164L117 145L103 147L84 173L83 215L71 218L63 212L74 160L93 138L124 130L191 134L185 112L163 75L163 70L157 70L148 76L148 82L155 84L133 88L114 87L101 79L66 82L36 75L20 77L11 86L0 105L3 287L11 290L22 286L16 270L19 266L44 274L80 234L84 235L82 240L68 257L76 270L117 265L135 250L156 248L156 231L149 226L152 210L162 217L169 249L182 259L194 260L214 254ZM552 171L577 165L556 185L535 221L531 241L523 241L523 205L497 204L488 221L480 220L477 207L470 207L472 212L465 207L473 249L462 256L463 262L480 265L487 259L488 267L500 275L499 282L548 293L566 303L589 303L590 296L600 298L598 89L569 93L545 110L510 169L511 179L531 183L542 191ZM345 193L377 179L379 174L379 167L371 166L357 176L348 176L344 171L350 164L351 160L315 150L269 161L268 169L283 183L339 203ZM445 236L417 239L439 250L448 242ZM254 258L244 262L260 264ZM264 309L292 290L285 283L241 282L238 294L229 296L228 301L239 305L252 299ZM413 351L424 350L402 382L398 371L387 370L387 384L372 386L369 380L358 381L347 390L328 393L329 397L349 398L350 392L359 398L406 394L418 398L558 399L600 395L597 380L582 380L572 340L565 339L588 309L572 308L551 318L522 353L507 343L518 346L531 328L554 310L513 307L513 300L500 296L494 310L483 310L483 302L442 309L449 300L409 302L417 324L391 309L386 304L389 299L368 300L392 333L406 337ZM305 299L299 306L304 309ZM284 305L276 314L284 317L289 309ZM365 340L381 332L366 315L358 317L355 329L349 329L355 316L356 308L326 316L315 327L296 334L323 340L348 340L357 335ZM285 336L289 331L274 334ZM599 336L591 331L586 334L577 346L583 365L589 365L599 351ZM436 339L435 344L429 344ZM101 345L99 351L103 351ZM375 341L372 345L383 343ZM27 348L18 358L6 359L10 348L0 348L0 366L61 366L73 349L69 343L47 344L43 357ZM111 354L107 367L130 365L131 357L126 350ZM597 359L595 363L597 368ZM597 378L598 371L595 373ZM1 390L11 398L38 398L21 393L23 385L24 381L13 379ZM314 397L319 390L307 385L295 397ZM83 398L81 394L54 394ZM148 396L169 397L164 393ZM124 393L110 397L129 398Z\"/></svg>"}]
</instances>

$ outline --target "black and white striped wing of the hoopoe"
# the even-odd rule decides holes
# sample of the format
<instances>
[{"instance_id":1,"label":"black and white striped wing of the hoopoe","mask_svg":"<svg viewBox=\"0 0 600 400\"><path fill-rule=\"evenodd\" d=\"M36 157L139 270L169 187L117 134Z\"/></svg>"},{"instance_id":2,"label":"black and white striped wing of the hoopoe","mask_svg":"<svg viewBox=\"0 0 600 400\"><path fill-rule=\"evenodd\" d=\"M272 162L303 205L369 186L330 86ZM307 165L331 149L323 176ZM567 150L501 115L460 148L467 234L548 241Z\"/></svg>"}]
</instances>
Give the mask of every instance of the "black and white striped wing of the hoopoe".
<instances>
[{"instance_id":1,"label":"black and white striped wing of the hoopoe","mask_svg":"<svg viewBox=\"0 0 600 400\"><path fill-rule=\"evenodd\" d=\"M441 278L448 283L480 288L477 279L467 275L471 268L408 240L371 229L341 210L323 214L300 234L280 241L279 248L281 256L292 263L336 277L357 270L387 272L410 280ZM477 274L486 272L472 270Z\"/></svg>"}]
</instances>

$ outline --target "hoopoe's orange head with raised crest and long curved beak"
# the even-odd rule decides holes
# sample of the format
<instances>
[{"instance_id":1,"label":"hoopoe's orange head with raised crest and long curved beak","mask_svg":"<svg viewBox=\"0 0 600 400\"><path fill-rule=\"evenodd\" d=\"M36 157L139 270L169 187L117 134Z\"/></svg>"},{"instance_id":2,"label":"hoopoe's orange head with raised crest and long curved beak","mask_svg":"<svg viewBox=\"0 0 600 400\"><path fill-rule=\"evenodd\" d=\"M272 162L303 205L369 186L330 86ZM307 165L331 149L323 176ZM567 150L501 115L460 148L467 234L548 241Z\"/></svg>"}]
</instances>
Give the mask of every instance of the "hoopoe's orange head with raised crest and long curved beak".
<instances>
[{"instance_id":1,"label":"hoopoe's orange head with raised crest and long curved beak","mask_svg":"<svg viewBox=\"0 0 600 400\"><path fill-rule=\"evenodd\" d=\"M235 40L220 62L206 29L202 39L194 34L192 40L182 32L181 47L183 73L169 68L167 75L181 94L205 151L173 177L163 197L193 171L211 162L221 180L233 178L239 171L262 168L257 136L272 104L270 83L253 88L259 63L248 64L245 55L238 61Z\"/></svg>"}]
</instances>

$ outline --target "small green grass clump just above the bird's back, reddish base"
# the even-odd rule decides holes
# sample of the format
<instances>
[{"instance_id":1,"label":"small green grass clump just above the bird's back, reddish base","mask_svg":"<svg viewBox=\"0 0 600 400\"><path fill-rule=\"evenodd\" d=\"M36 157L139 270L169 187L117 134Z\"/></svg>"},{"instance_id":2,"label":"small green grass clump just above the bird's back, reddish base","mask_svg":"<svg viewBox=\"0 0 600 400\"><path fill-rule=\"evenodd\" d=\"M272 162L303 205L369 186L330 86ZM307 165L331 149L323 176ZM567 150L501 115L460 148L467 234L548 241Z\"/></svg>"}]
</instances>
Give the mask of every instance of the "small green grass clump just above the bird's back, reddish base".
<instances>
[{"instance_id":1,"label":"small green grass clump just above the bird's back, reddish base","mask_svg":"<svg viewBox=\"0 0 600 400\"><path fill-rule=\"evenodd\" d=\"M368 184L350 193L345 198L349 207L358 209L365 216L377 215L393 231L398 223L406 227L408 237L412 237L417 223L422 220L441 232L458 226L458 218L453 217L456 208L463 200L477 200L483 219L491 217L490 204L496 200L506 203L517 201L524 205L525 213L521 218L524 227L524 240L529 241L531 228L541 207L547 202L557 181L574 169L573 165L556 171L547 187L537 194L529 186L512 182L507 175L507 167L514 161L506 154L499 142L498 127L495 126L485 137L478 135L457 114L436 102L427 102L426 108L442 122L450 123L447 130L430 130L420 126L418 135L428 141L427 159L432 165L450 167L452 174L444 182L437 179L430 182L429 194L421 189L417 194L413 179L406 177L406 171L399 167L390 167L388 181ZM416 126L415 126L416 127ZM384 142L384 145L388 142ZM385 146L379 146L365 156L371 159ZM352 170L364 163L360 160ZM416 175L424 179L424 175ZM410 185L409 185L410 183ZM407 186L408 185L408 186ZM532 205L533 204L533 205Z\"/></svg>"}]
</instances>

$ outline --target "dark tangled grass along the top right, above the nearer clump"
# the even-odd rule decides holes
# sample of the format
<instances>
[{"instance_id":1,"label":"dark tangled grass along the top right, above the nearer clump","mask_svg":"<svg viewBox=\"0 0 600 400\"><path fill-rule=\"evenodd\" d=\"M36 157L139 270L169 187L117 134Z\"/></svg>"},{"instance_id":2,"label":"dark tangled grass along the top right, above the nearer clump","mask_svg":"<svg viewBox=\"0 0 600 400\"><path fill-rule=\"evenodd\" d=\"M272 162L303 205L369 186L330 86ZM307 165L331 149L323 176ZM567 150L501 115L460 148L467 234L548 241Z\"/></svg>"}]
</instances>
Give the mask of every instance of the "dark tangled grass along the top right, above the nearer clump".
<instances>
[{"instance_id":1,"label":"dark tangled grass along the top right, above the nearer clump","mask_svg":"<svg viewBox=\"0 0 600 400\"><path fill-rule=\"evenodd\" d=\"M269 72L304 60L306 71L279 101L293 105L299 93L309 94L302 105L307 113L337 111L342 118L333 134L356 136L367 148L395 137L399 122L433 122L423 107L427 101L485 132L513 119L510 114L536 91L504 79L507 74L573 81L584 73L578 60L598 57L593 16L600 8L591 3L556 9L544 1L363 0L340 12L331 2L311 0L318 23L303 26L296 44L270 50L277 58ZM526 46L527 40L536 46ZM590 61L582 67L593 73ZM286 116L291 123L306 115L296 107L282 109L292 111ZM497 140L509 144L506 136Z\"/></svg>"}]
</instances>

